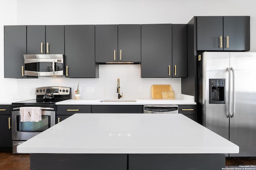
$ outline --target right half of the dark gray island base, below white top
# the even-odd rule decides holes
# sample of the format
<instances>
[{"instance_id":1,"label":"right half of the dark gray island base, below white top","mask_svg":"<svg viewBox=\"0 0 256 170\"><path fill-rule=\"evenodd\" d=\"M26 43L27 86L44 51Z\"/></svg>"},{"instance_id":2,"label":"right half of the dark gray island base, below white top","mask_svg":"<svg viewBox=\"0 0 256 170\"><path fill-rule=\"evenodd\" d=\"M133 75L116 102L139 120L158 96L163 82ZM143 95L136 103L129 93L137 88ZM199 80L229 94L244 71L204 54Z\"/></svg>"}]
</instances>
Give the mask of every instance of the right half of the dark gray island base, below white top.
<instances>
[{"instance_id":1,"label":"right half of the dark gray island base, below white top","mask_svg":"<svg viewBox=\"0 0 256 170\"><path fill-rule=\"evenodd\" d=\"M129 154L129 170L221 170L225 154Z\"/></svg>"}]
</instances>

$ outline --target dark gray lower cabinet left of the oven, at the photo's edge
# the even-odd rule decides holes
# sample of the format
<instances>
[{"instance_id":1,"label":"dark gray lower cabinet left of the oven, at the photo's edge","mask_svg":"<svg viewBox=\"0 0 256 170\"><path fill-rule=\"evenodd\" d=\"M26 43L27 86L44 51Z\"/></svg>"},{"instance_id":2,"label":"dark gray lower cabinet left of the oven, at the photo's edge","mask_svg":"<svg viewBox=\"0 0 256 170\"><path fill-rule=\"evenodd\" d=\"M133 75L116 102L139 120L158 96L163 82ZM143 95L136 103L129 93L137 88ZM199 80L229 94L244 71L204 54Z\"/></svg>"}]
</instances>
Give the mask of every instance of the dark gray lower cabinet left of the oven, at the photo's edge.
<instances>
[{"instance_id":1,"label":"dark gray lower cabinet left of the oven, at the photo's edge","mask_svg":"<svg viewBox=\"0 0 256 170\"><path fill-rule=\"evenodd\" d=\"M12 105L0 105L0 149L12 149Z\"/></svg>"}]
</instances>

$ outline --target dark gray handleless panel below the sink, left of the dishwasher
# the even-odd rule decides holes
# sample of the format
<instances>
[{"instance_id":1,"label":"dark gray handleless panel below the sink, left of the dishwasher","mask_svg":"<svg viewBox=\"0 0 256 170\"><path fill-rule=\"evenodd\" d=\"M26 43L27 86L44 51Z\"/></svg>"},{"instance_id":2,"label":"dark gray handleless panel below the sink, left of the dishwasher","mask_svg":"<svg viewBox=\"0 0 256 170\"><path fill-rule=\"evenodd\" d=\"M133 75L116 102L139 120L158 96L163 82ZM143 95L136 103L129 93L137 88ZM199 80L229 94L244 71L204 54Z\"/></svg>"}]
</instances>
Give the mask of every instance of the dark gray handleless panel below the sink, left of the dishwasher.
<instances>
[{"instance_id":1,"label":"dark gray handleless panel below the sink, left of the dishwasher","mask_svg":"<svg viewBox=\"0 0 256 170\"><path fill-rule=\"evenodd\" d=\"M92 105L92 113L143 113L142 105Z\"/></svg>"}]
</instances>

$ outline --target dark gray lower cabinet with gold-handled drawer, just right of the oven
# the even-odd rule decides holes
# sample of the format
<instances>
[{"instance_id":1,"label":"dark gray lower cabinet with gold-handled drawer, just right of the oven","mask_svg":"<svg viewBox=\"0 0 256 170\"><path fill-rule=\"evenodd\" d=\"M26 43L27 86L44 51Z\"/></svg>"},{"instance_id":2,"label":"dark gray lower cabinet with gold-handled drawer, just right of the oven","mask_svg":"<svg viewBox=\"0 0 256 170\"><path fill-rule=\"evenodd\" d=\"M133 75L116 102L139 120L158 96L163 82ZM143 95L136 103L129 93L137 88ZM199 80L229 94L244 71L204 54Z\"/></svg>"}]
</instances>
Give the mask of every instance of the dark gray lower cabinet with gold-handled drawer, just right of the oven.
<instances>
[{"instance_id":1,"label":"dark gray lower cabinet with gold-handled drawer, just right of the oven","mask_svg":"<svg viewBox=\"0 0 256 170\"><path fill-rule=\"evenodd\" d=\"M75 113L91 113L91 105L57 105L56 123Z\"/></svg>"}]
</instances>

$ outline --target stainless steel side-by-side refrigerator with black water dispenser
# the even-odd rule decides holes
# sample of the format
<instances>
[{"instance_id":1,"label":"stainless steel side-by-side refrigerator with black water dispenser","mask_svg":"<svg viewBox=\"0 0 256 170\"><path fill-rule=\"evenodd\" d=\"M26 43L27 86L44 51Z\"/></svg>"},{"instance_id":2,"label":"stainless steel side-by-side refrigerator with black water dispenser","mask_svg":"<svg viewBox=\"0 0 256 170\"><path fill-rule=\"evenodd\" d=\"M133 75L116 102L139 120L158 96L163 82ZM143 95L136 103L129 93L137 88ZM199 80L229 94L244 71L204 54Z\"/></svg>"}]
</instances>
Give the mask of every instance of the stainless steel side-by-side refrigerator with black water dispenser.
<instances>
[{"instance_id":1,"label":"stainless steel side-by-side refrigerator with black water dispenser","mask_svg":"<svg viewBox=\"0 0 256 170\"><path fill-rule=\"evenodd\" d=\"M202 124L256 156L256 53L198 55L198 109Z\"/></svg>"}]
</instances>

